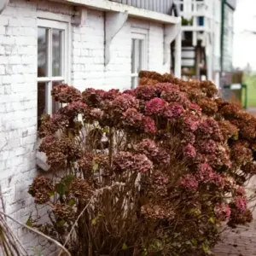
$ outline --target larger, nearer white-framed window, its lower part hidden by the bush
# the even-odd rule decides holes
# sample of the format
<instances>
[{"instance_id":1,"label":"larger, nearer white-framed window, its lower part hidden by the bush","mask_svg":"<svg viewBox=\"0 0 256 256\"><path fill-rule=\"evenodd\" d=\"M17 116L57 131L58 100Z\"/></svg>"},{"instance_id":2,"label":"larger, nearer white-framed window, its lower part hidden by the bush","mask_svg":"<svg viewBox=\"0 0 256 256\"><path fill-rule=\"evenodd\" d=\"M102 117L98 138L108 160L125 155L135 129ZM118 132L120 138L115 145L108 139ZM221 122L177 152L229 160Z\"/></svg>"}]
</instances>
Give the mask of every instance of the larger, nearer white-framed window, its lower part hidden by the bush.
<instances>
[{"instance_id":1,"label":"larger, nearer white-framed window, its lower part hidden by the bush","mask_svg":"<svg viewBox=\"0 0 256 256\"><path fill-rule=\"evenodd\" d=\"M52 88L67 82L68 23L38 19L38 125L43 114L59 108Z\"/></svg>"}]
</instances>

